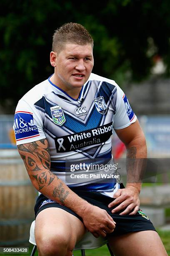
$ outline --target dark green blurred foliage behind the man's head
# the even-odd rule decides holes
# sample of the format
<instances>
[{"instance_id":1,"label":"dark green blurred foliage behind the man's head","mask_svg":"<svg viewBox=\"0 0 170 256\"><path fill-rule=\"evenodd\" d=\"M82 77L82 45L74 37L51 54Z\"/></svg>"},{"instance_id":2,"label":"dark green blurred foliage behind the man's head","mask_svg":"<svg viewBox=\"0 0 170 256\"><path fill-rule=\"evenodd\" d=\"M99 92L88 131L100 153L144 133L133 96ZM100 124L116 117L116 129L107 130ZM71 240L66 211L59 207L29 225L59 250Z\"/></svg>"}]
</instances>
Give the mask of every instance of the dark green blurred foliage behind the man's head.
<instances>
[{"instance_id":1,"label":"dark green blurred foliage behind the man's head","mask_svg":"<svg viewBox=\"0 0 170 256\"><path fill-rule=\"evenodd\" d=\"M93 72L122 85L145 79L160 55L170 72L169 0L1 1L0 102L20 97L52 74L52 34L66 22L84 25L95 40ZM152 43L150 43L152 42Z\"/></svg>"}]
</instances>

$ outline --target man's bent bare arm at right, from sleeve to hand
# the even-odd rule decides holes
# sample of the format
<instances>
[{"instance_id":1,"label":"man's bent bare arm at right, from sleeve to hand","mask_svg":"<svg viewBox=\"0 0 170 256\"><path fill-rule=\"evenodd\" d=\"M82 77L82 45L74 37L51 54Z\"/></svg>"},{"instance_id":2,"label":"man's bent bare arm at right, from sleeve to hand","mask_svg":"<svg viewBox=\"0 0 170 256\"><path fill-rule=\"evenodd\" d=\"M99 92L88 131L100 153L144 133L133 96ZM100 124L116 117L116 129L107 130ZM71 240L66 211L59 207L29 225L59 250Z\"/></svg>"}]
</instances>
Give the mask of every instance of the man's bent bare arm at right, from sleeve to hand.
<instances>
[{"instance_id":1,"label":"man's bent bare arm at right, from sleeve to hand","mask_svg":"<svg viewBox=\"0 0 170 256\"><path fill-rule=\"evenodd\" d=\"M139 193L141 189L140 176L143 172L143 160L147 158L147 147L145 136L140 128L139 121L136 120L130 126L115 130L117 136L125 144L127 149L127 184L124 189L118 189L114 194L115 200L109 204L109 207L115 207L112 213L119 212L120 215L134 215L138 212L140 206ZM135 160L136 159L136 160ZM141 161L140 161L141 159ZM134 172L134 166L137 168ZM133 169L133 170L132 170ZM134 177L132 177L134 175ZM134 178L134 179L133 179Z\"/></svg>"}]
</instances>

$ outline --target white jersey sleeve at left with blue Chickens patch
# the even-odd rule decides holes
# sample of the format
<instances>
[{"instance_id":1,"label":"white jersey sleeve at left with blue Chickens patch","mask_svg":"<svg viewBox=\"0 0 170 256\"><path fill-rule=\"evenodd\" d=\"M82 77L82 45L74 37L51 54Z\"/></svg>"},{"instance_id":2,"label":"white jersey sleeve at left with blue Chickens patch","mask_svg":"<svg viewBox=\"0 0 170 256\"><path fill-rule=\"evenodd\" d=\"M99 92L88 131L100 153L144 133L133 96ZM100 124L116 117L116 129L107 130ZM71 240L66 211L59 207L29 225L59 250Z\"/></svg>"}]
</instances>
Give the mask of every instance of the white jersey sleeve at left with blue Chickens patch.
<instances>
[{"instance_id":1,"label":"white jersey sleeve at left with blue Chickens patch","mask_svg":"<svg viewBox=\"0 0 170 256\"><path fill-rule=\"evenodd\" d=\"M17 145L46 138L42 118L35 106L22 99L18 102L15 111L13 129Z\"/></svg>"}]
</instances>

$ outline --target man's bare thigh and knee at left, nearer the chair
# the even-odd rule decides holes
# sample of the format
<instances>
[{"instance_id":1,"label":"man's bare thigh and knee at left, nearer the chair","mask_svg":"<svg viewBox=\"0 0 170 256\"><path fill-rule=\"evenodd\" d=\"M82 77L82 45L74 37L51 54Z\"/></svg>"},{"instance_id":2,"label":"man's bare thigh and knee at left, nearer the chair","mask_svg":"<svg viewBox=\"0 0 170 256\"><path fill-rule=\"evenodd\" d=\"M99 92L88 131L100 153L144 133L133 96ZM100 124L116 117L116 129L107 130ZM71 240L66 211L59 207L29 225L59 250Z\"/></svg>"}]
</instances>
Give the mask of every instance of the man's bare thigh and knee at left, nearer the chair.
<instances>
[{"instance_id":1,"label":"man's bare thigh and knee at left, nearer the chair","mask_svg":"<svg viewBox=\"0 0 170 256\"><path fill-rule=\"evenodd\" d=\"M81 220L57 207L42 210L35 220L37 247L48 241L48 243L56 243L56 246L69 243L69 247L74 248L75 243L85 232L86 228Z\"/></svg>"}]
</instances>

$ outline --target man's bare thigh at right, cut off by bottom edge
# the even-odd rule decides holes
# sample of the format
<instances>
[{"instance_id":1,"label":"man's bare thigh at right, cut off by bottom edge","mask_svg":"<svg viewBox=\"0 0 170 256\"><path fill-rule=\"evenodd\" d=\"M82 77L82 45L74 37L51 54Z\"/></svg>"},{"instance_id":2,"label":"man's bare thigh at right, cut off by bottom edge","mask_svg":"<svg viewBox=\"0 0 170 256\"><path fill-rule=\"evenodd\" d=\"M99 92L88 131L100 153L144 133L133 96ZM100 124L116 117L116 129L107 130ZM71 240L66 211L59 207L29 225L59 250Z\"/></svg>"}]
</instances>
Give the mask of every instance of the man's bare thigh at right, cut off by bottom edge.
<instances>
[{"instance_id":1,"label":"man's bare thigh at right, cut off by bottom edge","mask_svg":"<svg viewBox=\"0 0 170 256\"><path fill-rule=\"evenodd\" d=\"M113 231L114 232L114 231ZM132 232L108 238L116 256L167 256L158 233L154 230Z\"/></svg>"}]
</instances>

